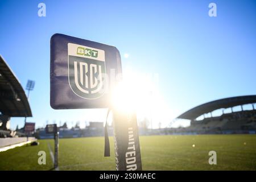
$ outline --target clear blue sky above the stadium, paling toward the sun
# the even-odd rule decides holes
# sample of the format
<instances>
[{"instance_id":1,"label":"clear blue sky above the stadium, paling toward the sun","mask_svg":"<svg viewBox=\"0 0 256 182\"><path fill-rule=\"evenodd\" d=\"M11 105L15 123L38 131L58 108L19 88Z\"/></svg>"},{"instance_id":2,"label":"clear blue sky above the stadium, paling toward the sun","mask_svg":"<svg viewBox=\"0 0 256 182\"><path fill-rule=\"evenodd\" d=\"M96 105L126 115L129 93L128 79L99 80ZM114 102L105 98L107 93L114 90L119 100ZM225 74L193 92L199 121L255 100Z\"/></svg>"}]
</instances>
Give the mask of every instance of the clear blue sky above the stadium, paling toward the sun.
<instances>
[{"instance_id":1,"label":"clear blue sky above the stadium, paling toward the sun","mask_svg":"<svg viewBox=\"0 0 256 182\"><path fill-rule=\"evenodd\" d=\"M38 16L40 2L46 17ZM217 17L208 15L210 2ZM27 119L36 127L106 117L105 109L51 109L49 40L55 33L113 45L124 70L158 74L167 126L204 102L255 94L255 22L255 1L1 1L0 53L23 87L36 81L34 117ZM12 118L11 127L23 123Z\"/></svg>"}]
</instances>

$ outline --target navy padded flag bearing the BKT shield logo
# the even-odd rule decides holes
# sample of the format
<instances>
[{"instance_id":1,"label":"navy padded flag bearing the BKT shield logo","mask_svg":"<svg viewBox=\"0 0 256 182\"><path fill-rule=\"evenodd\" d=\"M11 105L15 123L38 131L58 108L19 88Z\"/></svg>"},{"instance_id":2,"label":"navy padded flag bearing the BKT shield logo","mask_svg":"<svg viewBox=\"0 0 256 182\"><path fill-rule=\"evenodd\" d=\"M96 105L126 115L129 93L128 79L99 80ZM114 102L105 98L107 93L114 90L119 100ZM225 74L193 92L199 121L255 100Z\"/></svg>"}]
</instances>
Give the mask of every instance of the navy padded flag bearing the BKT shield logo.
<instances>
[{"instance_id":1,"label":"navy padded flag bearing the BKT shield logo","mask_svg":"<svg viewBox=\"0 0 256 182\"><path fill-rule=\"evenodd\" d=\"M50 104L53 109L108 108L122 73L114 46L54 34L51 37Z\"/></svg>"}]
</instances>

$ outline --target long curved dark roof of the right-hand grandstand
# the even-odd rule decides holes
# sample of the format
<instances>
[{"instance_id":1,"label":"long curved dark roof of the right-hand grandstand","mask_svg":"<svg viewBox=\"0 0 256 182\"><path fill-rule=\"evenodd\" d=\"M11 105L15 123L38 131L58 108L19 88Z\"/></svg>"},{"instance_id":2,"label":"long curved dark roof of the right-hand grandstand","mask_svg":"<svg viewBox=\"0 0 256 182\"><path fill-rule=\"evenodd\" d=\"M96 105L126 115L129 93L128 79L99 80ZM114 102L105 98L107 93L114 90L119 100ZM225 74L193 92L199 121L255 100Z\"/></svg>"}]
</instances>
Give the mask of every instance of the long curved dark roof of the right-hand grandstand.
<instances>
[{"instance_id":1,"label":"long curved dark roof of the right-hand grandstand","mask_svg":"<svg viewBox=\"0 0 256 182\"><path fill-rule=\"evenodd\" d=\"M253 104L256 103L256 95L252 96L238 96L238 97L229 97L229 98L222 98L220 100L207 102L205 104L196 106L185 113L179 115L180 119L196 119L202 114L210 113L214 110L221 109L221 108L229 108L238 105L244 104Z\"/></svg>"}]
</instances>

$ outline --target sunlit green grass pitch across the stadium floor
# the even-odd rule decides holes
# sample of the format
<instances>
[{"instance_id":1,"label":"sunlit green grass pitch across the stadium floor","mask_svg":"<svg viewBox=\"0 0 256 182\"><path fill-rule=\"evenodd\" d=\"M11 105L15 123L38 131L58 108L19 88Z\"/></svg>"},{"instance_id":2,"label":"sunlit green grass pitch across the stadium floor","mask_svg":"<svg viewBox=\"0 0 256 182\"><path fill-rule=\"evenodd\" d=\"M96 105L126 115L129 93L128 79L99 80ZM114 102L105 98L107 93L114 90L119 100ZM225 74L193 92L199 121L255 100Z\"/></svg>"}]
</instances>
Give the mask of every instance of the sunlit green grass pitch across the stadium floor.
<instances>
[{"instance_id":1,"label":"sunlit green grass pitch across the stadium floor","mask_svg":"<svg viewBox=\"0 0 256 182\"><path fill-rule=\"evenodd\" d=\"M48 143L16 147L0 152L0 170L50 170ZM142 136L143 170L256 170L256 135L167 135ZM115 170L114 142L104 158L104 138L60 139L60 170ZM195 147L193 147L195 145ZM38 164L38 152L46 151L46 165ZM217 165L209 165L208 152L217 152ZM54 152L54 151L53 151Z\"/></svg>"}]
</instances>

